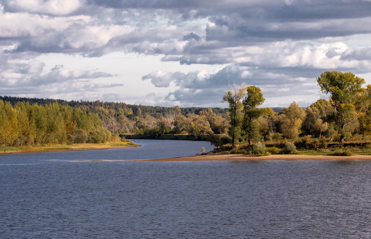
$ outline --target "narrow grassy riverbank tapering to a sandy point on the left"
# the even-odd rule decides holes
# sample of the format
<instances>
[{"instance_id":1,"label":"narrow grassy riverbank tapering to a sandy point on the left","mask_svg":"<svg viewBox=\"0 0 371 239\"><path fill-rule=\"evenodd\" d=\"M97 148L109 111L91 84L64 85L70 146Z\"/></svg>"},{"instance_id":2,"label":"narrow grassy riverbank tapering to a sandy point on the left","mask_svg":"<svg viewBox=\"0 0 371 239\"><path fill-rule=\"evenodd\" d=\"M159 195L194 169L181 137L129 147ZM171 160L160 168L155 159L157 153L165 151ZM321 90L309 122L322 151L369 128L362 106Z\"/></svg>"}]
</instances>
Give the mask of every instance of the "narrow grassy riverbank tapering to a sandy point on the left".
<instances>
[{"instance_id":1,"label":"narrow grassy riverbank tapering to a sandy point on the left","mask_svg":"<svg viewBox=\"0 0 371 239\"><path fill-rule=\"evenodd\" d=\"M41 147L32 146L19 146L19 147L6 147L0 146L0 154L9 153L37 153L37 152L53 152L53 151L75 151L75 150L103 150L103 149L124 149L138 147L132 142L120 143L76 143L73 145L47 145Z\"/></svg>"}]
</instances>

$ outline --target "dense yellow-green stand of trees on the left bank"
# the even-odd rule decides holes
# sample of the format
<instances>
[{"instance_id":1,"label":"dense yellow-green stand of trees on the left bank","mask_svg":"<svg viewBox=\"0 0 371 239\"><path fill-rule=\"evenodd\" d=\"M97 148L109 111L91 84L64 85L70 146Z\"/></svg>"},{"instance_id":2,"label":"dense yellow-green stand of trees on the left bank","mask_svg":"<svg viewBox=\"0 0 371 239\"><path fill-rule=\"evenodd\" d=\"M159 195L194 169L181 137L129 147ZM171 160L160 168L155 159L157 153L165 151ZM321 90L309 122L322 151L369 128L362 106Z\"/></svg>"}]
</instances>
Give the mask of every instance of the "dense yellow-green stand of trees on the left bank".
<instances>
[{"instance_id":1,"label":"dense yellow-green stand of trees on the left bank","mask_svg":"<svg viewBox=\"0 0 371 239\"><path fill-rule=\"evenodd\" d=\"M13 106L0 100L0 145L102 143L110 137L98 114L57 102L43 106L17 102Z\"/></svg>"}]
</instances>

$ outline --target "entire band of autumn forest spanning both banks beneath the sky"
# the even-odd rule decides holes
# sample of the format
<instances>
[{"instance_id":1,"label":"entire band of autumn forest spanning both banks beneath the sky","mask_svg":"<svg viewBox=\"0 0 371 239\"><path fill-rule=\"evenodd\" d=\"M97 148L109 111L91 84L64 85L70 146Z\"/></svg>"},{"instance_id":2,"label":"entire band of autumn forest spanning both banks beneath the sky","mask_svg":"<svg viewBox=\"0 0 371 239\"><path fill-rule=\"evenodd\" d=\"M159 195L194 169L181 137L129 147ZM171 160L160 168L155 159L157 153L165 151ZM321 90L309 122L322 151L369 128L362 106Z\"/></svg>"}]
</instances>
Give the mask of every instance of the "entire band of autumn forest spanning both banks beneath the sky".
<instances>
[{"instance_id":1,"label":"entire band of autumn forest spanning both banks beneath the sky","mask_svg":"<svg viewBox=\"0 0 371 239\"><path fill-rule=\"evenodd\" d=\"M118 102L0 97L0 145L99 143L117 134L191 134L215 146L296 140L344 142L371 135L371 85L351 72L317 79L329 100L306 108L262 108L259 87L234 84L221 98L228 108L160 107Z\"/></svg>"}]
</instances>

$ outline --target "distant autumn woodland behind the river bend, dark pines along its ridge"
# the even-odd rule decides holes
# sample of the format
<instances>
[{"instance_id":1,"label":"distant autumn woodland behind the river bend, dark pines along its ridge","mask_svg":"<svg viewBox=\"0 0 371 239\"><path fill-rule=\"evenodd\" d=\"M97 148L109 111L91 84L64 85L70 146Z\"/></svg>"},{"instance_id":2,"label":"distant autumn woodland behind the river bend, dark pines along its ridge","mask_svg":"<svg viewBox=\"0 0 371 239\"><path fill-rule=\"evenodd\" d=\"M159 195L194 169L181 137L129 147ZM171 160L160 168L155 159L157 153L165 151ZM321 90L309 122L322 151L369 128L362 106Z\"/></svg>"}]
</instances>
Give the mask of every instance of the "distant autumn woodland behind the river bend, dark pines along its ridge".
<instances>
[{"instance_id":1,"label":"distant autumn woodland behind the river bend, dark pines along its ridge","mask_svg":"<svg viewBox=\"0 0 371 239\"><path fill-rule=\"evenodd\" d=\"M226 133L228 128L228 109L206 107L161 107L126 104L123 102L66 101L53 99L37 99L4 96L0 99L15 106L19 102L47 105L57 102L61 106L71 106L86 113L98 114L103 126L112 133L135 133L152 136L164 134L190 133L189 124L185 120L188 115L207 117L214 133ZM188 125L187 125L188 123Z\"/></svg>"}]
</instances>

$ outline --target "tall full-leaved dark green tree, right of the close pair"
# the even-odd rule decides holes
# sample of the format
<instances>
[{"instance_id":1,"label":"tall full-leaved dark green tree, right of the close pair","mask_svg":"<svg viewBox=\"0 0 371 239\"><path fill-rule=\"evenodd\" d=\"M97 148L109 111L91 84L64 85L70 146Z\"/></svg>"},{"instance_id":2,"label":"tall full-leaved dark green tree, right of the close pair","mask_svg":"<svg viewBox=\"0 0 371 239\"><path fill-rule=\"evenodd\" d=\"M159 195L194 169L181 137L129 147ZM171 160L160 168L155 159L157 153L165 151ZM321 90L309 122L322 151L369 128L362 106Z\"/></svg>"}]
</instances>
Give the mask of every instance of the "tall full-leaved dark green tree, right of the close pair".
<instances>
[{"instance_id":1,"label":"tall full-leaved dark green tree, right of the close pair","mask_svg":"<svg viewBox=\"0 0 371 239\"><path fill-rule=\"evenodd\" d=\"M259 109L258 107L264 103L262 91L259 87L248 86L246 88L246 96L243 100L243 129L246 133L249 145L251 145L252 138L258 138L259 127L257 125L257 119L265 114L265 109Z\"/></svg>"}]
</instances>

